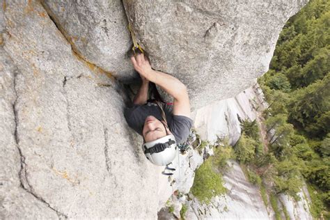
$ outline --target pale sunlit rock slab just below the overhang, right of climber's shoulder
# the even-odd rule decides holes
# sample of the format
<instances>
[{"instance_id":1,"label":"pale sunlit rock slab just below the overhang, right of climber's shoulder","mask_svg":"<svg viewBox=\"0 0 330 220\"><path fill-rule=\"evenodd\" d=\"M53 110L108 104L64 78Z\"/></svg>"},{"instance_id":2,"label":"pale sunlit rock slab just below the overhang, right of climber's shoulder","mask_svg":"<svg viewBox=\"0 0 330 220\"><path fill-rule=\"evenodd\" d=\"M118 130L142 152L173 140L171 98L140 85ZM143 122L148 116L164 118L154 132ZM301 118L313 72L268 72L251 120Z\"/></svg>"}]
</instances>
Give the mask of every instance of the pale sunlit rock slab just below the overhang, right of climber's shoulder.
<instances>
[{"instance_id":1,"label":"pale sunlit rock slab just below the overhang, right of climber's shoulder","mask_svg":"<svg viewBox=\"0 0 330 220\"><path fill-rule=\"evenodd\" d=\"M218 139L228 138L228 143L234 146L241 136L241 121L253 121L257 117L257 99L262 99L263 93L255 84L235 97L214 102L194 112L194 127L201 139L215 143Z\"/></svg>"}]
</instances>

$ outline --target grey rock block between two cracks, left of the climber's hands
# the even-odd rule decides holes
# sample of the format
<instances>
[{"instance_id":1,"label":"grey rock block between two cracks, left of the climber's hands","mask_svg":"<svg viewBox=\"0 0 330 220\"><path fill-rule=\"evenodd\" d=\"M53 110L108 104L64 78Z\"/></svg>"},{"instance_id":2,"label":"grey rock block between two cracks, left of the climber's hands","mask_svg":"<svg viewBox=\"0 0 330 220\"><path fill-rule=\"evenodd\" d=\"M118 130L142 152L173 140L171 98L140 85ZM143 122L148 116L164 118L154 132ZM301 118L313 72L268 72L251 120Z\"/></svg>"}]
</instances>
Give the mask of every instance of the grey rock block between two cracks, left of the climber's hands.
<instances>
[{"instance_id":1,"label":"grey rock block between two cracks, left of the climber's hands","mask_svg":"<svg viewBox=\"0 0 330 220\"><path fill-rule=\"evenodd\" d=\"M121 1L45 0L42 4L84 59L117 79L134 78L134 69L126 56L132 40Z\"/></svg>"}]
</instances>

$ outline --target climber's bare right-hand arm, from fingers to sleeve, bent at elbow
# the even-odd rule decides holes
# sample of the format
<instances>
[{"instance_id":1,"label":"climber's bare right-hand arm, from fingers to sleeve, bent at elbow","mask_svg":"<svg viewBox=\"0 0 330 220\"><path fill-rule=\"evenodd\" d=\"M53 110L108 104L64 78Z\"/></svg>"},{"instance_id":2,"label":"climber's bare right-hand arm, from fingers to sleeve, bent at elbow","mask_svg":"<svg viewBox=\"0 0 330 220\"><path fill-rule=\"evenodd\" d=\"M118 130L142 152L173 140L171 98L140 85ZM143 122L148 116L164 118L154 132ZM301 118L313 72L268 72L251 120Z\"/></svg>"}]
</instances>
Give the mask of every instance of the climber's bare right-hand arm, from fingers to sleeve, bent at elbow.
<instances>
[{"instance_id":1,"label":"climber's bare right-hand arm, from fingers to sleeve, bent at elbow","mask_svg":"<svg viewBox=\"0 0 330 220\"><path fill-rule=\"evenodd\" d=\"M179 79L170 74L152 70L151 65L143 54L131 58L134 68L141 76L162 87L166 93L174 97L173 114L177 116L190 116L190 103L187 88Z\"/></svg>"}]
</instances>

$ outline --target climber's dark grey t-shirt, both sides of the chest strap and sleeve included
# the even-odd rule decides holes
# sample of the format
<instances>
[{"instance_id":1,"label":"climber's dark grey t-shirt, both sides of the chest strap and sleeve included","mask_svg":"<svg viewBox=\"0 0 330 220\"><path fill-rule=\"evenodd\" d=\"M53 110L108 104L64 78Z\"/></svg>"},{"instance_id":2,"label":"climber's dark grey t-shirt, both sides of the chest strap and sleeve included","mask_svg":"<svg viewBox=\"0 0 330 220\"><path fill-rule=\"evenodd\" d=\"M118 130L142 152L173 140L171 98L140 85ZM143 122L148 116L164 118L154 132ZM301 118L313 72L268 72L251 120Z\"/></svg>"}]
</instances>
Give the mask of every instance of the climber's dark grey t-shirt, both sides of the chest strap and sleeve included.
<instances>
[{"instance_id":1,"label":"climber's dark grey t-shirt, both sides of the chest strap and sleeve included","mask_svg":"<svg viewBox=\"0 0 330 220\"><path fill-rule=\"evenodd\" d=\"M193 123L191 118L186 116L173 115L173 106L164 104L163 109L166 115L168 128L175 136L177 143L185 141L189 136L190 128ZM129 127L142 135L144 121L148 116L154 116L158 120L162 120L162 111L157 104L148 102L147 104L134 104L133 107L125 109L125 118Z\"/></svg>"}]
</instances>

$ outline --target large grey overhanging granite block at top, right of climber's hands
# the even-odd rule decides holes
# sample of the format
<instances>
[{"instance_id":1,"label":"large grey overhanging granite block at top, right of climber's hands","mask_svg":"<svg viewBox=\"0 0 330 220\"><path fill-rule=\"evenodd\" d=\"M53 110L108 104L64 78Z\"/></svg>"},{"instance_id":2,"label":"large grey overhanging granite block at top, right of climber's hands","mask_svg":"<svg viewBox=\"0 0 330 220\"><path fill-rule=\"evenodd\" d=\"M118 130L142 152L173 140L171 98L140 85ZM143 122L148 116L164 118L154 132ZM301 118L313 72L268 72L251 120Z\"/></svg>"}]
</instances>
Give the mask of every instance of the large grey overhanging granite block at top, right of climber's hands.
<instances>
[{"instance_id":1,"label":"large grey overhanging granite block at top, right of climber's hands","mask_svg":"<svg viewBox=\"0 0 330 220\"><path fill-rule=\"evenodd\" d=\"M123 2L152 67L183 81L198 109L267 72L278 34L307 0Z\"/></svg>"}]
</instances>

